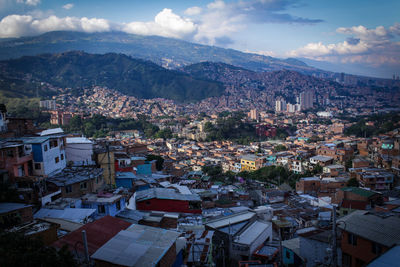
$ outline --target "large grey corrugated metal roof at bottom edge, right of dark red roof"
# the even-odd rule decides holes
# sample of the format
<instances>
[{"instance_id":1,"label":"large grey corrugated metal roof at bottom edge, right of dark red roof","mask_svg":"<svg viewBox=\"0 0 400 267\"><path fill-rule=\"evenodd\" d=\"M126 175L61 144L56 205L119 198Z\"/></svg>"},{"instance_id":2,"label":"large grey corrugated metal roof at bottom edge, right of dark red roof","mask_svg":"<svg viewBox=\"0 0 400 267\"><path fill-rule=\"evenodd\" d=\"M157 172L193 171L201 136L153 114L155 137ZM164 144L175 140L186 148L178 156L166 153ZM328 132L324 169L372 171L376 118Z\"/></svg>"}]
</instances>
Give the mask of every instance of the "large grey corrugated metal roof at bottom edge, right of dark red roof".
<instances>
[{"instance_id":1,"label":"large grey corrugated metal roof at bottom edge, right of dark red roof","mask_svg":"<svg viewBox=\"0 0 400 267\"><path fill-rule=\"evenodd\" d=\"M102 246L92 258L122 266L156 266L180 233L134 224Z\"/></svg>"}]
</instances>

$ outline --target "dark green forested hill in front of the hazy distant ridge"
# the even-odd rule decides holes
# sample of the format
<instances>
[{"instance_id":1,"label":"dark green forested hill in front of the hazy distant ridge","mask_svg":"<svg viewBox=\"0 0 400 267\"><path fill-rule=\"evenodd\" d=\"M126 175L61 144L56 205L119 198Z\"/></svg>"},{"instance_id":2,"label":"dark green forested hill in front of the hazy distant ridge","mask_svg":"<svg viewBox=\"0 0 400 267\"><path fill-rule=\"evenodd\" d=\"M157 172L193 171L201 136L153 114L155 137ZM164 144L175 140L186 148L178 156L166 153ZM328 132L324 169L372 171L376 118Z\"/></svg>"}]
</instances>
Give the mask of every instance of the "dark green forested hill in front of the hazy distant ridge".
<instances>
[{"instance_id":1,"label":"dark green forested hill in front of the hazy distant ridge","mask_svg":"<svg viewBox=\"0 0 400 267\"><path fill-rule=\"evenodd\" d=\"M154 63L122 54L83 52L26 56L0 62L0 80L8 97L48 96L41 82L61 88L104 86L138 98L167 98L179 102L220 96L219 82L193 78Z\"/></svg>"}]
</instances>

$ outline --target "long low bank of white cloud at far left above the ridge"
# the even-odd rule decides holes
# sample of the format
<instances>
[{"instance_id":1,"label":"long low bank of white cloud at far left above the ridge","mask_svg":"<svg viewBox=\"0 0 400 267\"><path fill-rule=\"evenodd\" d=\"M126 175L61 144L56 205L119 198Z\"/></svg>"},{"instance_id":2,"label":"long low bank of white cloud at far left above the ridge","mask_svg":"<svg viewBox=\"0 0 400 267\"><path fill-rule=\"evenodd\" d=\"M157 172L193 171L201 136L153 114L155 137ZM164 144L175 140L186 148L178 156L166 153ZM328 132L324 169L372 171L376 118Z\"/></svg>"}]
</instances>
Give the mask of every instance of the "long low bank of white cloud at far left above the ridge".
<instances>
[{"instance_id":1,"label":"long low bank of white cloud at far left above the ridge","mask_svg":"<svg viewBox=\"0 0 400 267\"><path fill-rule=\"evenodd\" d=\"M110 23L105 19L49 16L44 19L30 15L9 15L0 21L0 37L20 37L49 31L110 31Z\"/></svg>"}]
</instances>

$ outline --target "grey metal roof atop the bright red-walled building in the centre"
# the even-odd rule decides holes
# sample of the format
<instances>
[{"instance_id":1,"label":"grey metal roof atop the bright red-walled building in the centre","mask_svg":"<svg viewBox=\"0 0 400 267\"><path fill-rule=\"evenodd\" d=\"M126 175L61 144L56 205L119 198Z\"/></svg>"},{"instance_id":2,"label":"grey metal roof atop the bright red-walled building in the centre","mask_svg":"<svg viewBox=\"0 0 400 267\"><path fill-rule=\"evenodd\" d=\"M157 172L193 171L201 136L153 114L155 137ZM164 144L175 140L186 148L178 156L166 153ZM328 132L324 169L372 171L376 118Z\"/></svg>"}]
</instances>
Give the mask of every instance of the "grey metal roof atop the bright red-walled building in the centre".
<instances>
[{"instance_id":1,"label":"grey metal roof atop the bright red-walled building in the centre","mask_svg":"<svg viewBox=\"0 0 400 267\"><path fill-rule=\"evenodd\" d=\"M197 194L179 194L174 189L167 188L150 188L136 192L136 201L144 201L147 199L173 199L183 201L201 201Z\"/></svg>"}]
</instances>

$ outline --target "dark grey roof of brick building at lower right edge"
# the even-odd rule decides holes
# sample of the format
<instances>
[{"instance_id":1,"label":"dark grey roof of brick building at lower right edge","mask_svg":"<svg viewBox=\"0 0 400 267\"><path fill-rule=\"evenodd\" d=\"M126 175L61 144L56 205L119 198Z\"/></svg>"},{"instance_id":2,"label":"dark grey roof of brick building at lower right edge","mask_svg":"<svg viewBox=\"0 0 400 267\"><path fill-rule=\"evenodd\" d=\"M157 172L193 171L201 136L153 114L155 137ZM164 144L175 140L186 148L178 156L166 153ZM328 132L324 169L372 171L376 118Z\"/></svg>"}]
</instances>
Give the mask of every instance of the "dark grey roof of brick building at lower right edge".
<instances>
[{"instance_id":1,"label":"dark grey roof of brick building at lower right edge","mask_svg":"<svg viewBox=\"0 0 400 267\"><path fill-rule=\"evenodd\" d=\"M388 247L400 242L400 218L390 214L357 210L339 219L338 227Z\"/></svg>"}]
</instances>

